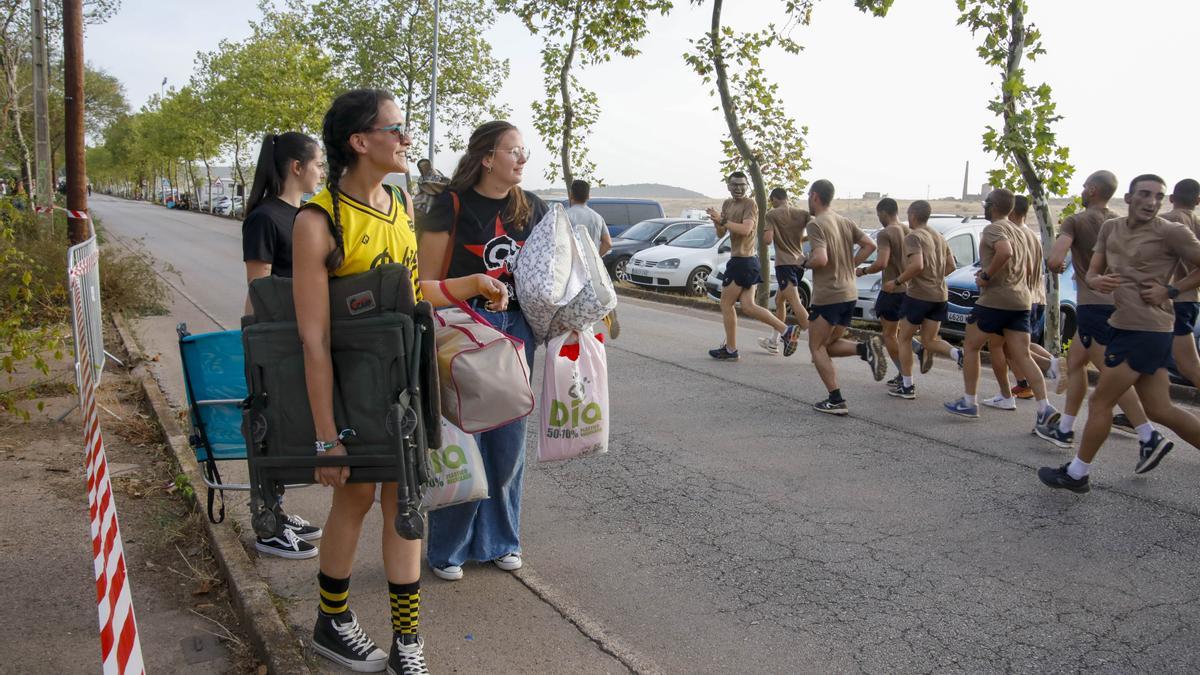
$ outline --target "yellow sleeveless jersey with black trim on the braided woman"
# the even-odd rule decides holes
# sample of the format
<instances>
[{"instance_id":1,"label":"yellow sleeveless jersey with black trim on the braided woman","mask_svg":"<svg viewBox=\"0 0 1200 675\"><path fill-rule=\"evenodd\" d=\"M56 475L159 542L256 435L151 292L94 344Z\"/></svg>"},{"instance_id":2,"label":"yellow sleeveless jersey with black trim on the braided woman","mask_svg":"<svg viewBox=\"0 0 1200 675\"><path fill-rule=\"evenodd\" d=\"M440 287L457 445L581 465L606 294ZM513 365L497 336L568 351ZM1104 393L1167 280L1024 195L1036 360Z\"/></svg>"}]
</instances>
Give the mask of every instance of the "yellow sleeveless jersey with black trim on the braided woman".
<instances>
[{"instance_id":1,"label":"yellow sleeveless jersey with black trim on the braided woman","mask_svg":"<svg viewBox=\"0 0 1200 675\"><path fill-rule=\"evenodd\" d=\"M400 263L413 275L413 294L420 300L421 288L416 270L416 232L409 220L400 191L386 186L391 196L388 211L380 211L340 192L337 195L338 217L342 223L342 249L346 258L331 276L349 276L368 271L386 263ZM334 197L329 189L322 190L302 208L318 208L334 219Z\"/></svg>"}]
</instances>

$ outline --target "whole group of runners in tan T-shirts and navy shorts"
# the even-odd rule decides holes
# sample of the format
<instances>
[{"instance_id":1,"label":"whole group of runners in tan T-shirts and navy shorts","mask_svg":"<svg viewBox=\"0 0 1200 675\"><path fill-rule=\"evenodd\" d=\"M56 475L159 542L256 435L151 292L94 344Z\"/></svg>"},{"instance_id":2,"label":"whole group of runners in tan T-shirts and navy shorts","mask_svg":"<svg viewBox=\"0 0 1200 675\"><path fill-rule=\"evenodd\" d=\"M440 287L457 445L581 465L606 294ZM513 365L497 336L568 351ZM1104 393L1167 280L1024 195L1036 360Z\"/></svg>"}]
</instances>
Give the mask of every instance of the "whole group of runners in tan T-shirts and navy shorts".
<instances>
[{"instance_id":1,"label":"whole group of runners in tan T-shirts and navy shorts","mask_svg":"<svg viewBox=\"0 0 1200 675\"><path fill-rule=\"evenodd\" d=\"M1088 473L1099 447L1112 428L1136 435L1136 473L1154 468L1174 444L1154 424L1171 429L1200 448L1200 419L1175 406L1170 398L1168 365L1192 382L1200 382L1200 356L1193 336L1200 297L1200 240L1195 208L1200 183L1181 180L1170 193L1171 209L1163 211L1166 183L1142 174L1129 183L1124 201L1128 215L1108 208L1117 192L1116 175L1091 174L1080 195L1084 209L1062 221L1054 246L1045 253L1039 232L1026 223L1030 201L1008 190L992 190L984 201L976 282L979 297L967 318L961 347L941 339L947 321L946 276L958 268L949 245L929 226L930 204L913 202L907 223L899 219L894 199L876 207L882 229L872 238L852 220L833 210L834 186L817 180L809 187L808 210L788 203L785 190L770 192L763 239L775 247L779 282L776 312L756 304L763 282L757 258L758 209L750 198L745 174L727 178L731 197L720 211L709 209L718 234L730 235L732 256L726 264L721 311L725 342L709 351L719 360L737 360L737 313L773 329L760 340L768 353L792 356L802 330L809 331L812 364L828 395L814 410L836 416L850 408L838 384L834 359L858 357L874 378L883 381L890 360L899 371L888 381L888 394L917 398L914 364L929 372L935 354L958 363L964 393L946 402L946 412L978 418L979 406L1016 410L1016 399L1033 399L1037 414L1032 432L1061 448L1075 447L1075 422L1087 395L1088 366L1100 371L1088 404L1076 455L1057 467L1043 467L1039 479L1051 486L1086 492ZM804 243L809 251L805 252ZM864 263L876 253L870 265ZM1076 328L1066 364L1040 344L1045 311L1046 274L1074 268ZM811 306L805 311L799 286L805 269L812 270ZM846 338L858 301L856 276L882 273L875 312L878 335L862 341ZM791 307L794 323L787 323ZM979 400L980 353L986 347L1000 393ZM1016 386L1009 383L1009 370ZM1050 388L1066 393L1064 410L1049 400ZM1122 413L1114 417L1114 406Z\"/></svg>"}]
</instances>

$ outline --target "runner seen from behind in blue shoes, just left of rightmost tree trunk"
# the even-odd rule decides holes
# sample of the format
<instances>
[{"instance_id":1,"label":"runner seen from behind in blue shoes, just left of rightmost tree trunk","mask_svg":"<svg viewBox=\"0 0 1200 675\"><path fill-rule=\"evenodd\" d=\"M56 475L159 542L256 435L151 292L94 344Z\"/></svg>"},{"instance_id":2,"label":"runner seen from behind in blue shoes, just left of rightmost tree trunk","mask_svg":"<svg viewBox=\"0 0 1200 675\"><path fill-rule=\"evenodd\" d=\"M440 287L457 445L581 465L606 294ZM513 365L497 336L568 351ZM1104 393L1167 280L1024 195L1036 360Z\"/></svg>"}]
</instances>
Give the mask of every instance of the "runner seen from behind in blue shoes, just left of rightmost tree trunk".
<instances>
[{"instance_id":1,"label":"runner seen from behind in blue shoes, just left of rightmost tree trunk","mask_svg":"<svg viewBox=\"0 0 1200 675\"><path fill-rule=\"evenodd\" d=\"M1046 399L1045 380L1030 358L1030 286L1027 268L1030 251L1025 237L1008 221L1015 195L1008 190L992 190L984 201L984 215L991 225L983 229L979 246L979 299L967 319L962 341L962 398L946 404L946 411L960 417L978 418L976 390L979 387L979 351L992 335L1000 335L1013 363L1030 376L1030 386L1038 402L1034 428L1057 411ZM1003 386L1007 386L1007 376ZM1002 386L1002 387L1003 387Z\"/></svg>"}]
</instances>

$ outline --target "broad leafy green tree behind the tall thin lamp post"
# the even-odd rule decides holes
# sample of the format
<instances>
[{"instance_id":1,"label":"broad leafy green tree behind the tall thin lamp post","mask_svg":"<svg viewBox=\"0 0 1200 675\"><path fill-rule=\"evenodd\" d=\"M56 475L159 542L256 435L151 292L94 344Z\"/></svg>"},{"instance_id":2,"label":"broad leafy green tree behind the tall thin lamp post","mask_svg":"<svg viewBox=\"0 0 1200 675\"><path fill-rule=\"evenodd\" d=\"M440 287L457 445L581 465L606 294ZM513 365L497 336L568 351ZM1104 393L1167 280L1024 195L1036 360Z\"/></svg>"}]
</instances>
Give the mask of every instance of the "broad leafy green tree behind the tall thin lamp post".
<instances>
[{"instance_id":1,"label":"broad leafy green tree behind the tall thin lamp post","mask_svg":"<svg viewBox=\"0 0 1200 675\"><path fill-rule=\"evenodd\" d=\"M331 55L338 79L347 88L395 94L414 131L414 153L424 153L420 130L428 129L430 118L433 1L320 0L311 11L304 25ZM454 150L466 147L467 133L480 120L508 114L496 94L509 77L509 62L497 59L484 37L494 23L494 10L485 0L442 0L437 123Z\"/></svg>"}]
</instances>

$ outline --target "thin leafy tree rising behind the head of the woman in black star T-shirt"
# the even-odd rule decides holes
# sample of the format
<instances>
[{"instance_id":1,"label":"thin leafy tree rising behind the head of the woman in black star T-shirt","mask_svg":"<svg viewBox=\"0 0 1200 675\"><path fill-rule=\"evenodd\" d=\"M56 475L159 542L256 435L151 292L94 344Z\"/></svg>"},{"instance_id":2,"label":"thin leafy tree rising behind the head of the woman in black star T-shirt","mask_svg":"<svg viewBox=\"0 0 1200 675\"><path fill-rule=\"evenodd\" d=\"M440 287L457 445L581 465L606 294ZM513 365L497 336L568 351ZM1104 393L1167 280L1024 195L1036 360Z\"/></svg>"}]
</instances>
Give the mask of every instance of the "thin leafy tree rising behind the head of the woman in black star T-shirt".
<instances>
[{"instance_id":1,"label":"thin leafy tree rising behind the head of the woman in black star T-shirt","mask_svg":"<svg viewBox=\"0 0 1200 675\"><path fill-rule=\"evenodd\" d=\"M559 163L546 168L546 179L570 190L576 173L599 181L588 159L587 137L600 117L595 92L586 89L574 68L602 64L614 55L631 58L647 34L647 17L666 14L671 0L498 0L500 11L516 14L526 28L546 38L541 49L547 97L533 102L534 127Z\"/></svg>"}]
</instances>

